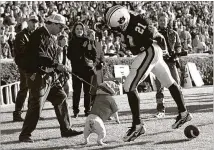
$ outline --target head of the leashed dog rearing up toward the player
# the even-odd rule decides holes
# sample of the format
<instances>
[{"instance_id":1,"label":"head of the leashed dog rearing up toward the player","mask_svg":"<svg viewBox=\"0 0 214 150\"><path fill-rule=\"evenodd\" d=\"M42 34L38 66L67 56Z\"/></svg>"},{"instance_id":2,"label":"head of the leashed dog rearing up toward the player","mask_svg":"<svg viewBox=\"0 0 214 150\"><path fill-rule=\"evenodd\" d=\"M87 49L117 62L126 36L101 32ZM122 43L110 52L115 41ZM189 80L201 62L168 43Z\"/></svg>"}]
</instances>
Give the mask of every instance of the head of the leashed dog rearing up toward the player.
<instances>
[{"instance_id":1,"label":"head of the leashed dog rearing up toward the player","mask_svg":"<svg viewBox=\"0 0 214 150\"><path fill-rule=\"evenodd\" d=\"M97 94L102 94L102 92L108 93L110 95L115 95L115 88L119 88L118 85L113 81L104 81L98 86Z\"/></svg>"}]
</instances>

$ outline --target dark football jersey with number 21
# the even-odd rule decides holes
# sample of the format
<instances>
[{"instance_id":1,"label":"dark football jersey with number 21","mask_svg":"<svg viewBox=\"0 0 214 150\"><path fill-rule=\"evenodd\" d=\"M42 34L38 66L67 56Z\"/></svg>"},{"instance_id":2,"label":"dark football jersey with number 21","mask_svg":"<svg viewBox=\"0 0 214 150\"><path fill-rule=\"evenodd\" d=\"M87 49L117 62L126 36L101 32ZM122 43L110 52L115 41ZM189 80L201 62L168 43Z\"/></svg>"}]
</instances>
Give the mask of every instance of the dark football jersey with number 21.
<instances>
[{"instance_id":1,"label":"dark football jersey with number 21","mask_svg":"<svg viewBox=\"0 0 214 150\"><path fill-rule=\"evenodd\" d=\"M125 43L130 51L137 55L153 43L154 27L150 20L142 15L130 13L130 22L123 32Z\"/></svg>"}]
</instances>

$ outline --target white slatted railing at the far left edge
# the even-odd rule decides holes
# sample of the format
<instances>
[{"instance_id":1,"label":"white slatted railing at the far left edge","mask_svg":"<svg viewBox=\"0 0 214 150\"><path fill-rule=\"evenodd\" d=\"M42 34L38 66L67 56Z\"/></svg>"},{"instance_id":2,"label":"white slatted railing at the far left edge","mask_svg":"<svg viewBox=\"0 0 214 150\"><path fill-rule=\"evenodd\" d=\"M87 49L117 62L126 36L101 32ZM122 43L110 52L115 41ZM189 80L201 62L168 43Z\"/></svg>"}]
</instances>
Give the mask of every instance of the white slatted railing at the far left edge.
<instances>
[{"instance_id":1,"label":"white slatted railing at the far left edge","mask_svg":"<svg viewBox=\"0 0 214 150\"><path fill-rule=\"evenodd\" d=\"M19 84L20 82L14 82L11 84L0 86L0 105L1 106L8 106L11 104L14 104L13 102L13 96L14 99L16 99L17 93L19 91ZM12 87L14 86L14 89ZM4 91L5 90L5 91ZM5 97L3 96L3 91L5 92Z\"/></svg>"}]
</instances>

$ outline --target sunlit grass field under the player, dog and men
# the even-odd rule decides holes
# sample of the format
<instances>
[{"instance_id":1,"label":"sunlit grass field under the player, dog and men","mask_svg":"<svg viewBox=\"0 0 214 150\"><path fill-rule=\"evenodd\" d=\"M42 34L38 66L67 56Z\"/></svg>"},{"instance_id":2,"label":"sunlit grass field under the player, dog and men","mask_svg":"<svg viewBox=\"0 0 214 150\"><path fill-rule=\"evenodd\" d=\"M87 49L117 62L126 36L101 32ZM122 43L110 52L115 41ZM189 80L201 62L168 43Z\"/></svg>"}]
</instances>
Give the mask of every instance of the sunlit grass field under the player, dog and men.
<instances>
[{"instance_id":1,"label":"sunlit grass field under the player, dog and men","mask_svg":"<svg viewBox=\"0 0 214 150\"><path fill-rule=\"evenodd\" d=\"M213 87L183 89L185 102L189 111L193 114L193 120L179 129L171 129L177 109L169 91L165 91L166 117L156 119L155 92L141 93L141 117L146 125L146 133L134 142L123 142L122 137L131 126L132 118L126 95L115 96L119 106L121 124L114 120L105 123L107 136L104 140L107 146L98 146L97 135L92 134L90 143L82 145L83 135L71 138L61 138L59 124L56 120L53 107L46 102L42 117L36 130L32 134L34 143L19 143L18 136L22 128L22 122L12 122L14 106L1 107L1 150L59 150L59 149L83 149L83 150L213 150ZM71 103L71 100L69 101ZM26 110L26 108L25 108ZM71 109L70 109L71 110ZM72 110L71 110L72 112ZM25 112L23 113L23 116ZM72 118L73 128L83 130L85 117L83 102L79 118ZM197 125L200 135L188 140L183 130L189 125Z\"/></svg>"}]
</instances>

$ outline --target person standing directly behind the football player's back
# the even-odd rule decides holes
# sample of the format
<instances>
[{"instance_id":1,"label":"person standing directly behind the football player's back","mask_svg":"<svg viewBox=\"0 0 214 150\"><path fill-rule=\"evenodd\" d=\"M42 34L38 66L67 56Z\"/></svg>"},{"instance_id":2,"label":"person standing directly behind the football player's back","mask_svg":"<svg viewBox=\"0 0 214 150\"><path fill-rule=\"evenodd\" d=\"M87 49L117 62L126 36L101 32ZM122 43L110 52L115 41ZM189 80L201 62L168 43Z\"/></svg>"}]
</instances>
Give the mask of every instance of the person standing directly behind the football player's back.
<instances>
[{"instance_id":1,"label":"person standing directly behind the football player's back","mask_svg":"<svg viewBox=\"0 0 214 150\"><path fill-rule=\"evenodd\" d=\"M181 52L181 41L178 33L171 29L168 26L169 17L167 13L163 12L158 15L158 25L159 25L159 33L161 33L166 39L167 50L168 52L164 54L164 60L169 67L169 70L172 74L174 80L180 85L180 77L178 74L178 70L176 67L176 53ZM162 118L165 116L165 107L164 107L164 88L161 86L160 81L156 80L157 93L156 93L156 102L157 102L157 118Z\"/></svg>"}]
</instances>

